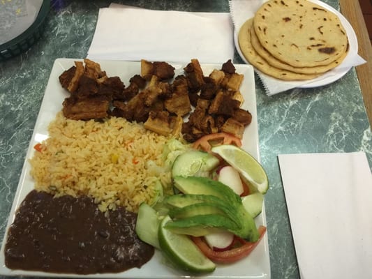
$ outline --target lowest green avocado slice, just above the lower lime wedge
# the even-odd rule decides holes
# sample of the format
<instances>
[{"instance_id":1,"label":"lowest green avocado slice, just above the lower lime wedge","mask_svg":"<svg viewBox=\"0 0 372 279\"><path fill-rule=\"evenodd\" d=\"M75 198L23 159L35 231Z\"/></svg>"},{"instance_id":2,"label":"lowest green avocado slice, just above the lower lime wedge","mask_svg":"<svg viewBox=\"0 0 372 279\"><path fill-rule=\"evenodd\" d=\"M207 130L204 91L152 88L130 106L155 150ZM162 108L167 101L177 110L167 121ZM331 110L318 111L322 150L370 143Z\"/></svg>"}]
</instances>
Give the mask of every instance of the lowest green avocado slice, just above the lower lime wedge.
<instances>
[{"instance_id":1,"label":"lowest green avocado slice, just above the lower lime wedge","mask_svg":"<svg viewBox=\"0 0 372 279\"><path fill-rule=\"evenodd\" d=\"M204 236L211 232L216 232L218 229L225 229L233 232L237 224L218 214L197 215L189 218L173 220L165 225L166 229L177 234L188 234L192 236Z\"/></svg>"}]
</instances>

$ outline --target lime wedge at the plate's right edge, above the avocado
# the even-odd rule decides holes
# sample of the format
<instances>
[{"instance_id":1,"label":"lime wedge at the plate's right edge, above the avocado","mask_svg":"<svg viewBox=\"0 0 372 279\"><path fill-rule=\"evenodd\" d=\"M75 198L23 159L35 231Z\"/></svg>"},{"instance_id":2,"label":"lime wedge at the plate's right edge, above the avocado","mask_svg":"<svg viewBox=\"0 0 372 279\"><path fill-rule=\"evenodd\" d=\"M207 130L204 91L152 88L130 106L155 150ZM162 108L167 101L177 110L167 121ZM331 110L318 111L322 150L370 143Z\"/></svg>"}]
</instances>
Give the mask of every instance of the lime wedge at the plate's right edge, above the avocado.
<instances>
[{"instance_id":1,"label":"lime wedge at the plate's right edge, above the avocado","mask_svg":"<svg viewBox=\"0 0 372 279\"><path fill-rule=\"evenodd\" d=\"M265 194L269 189L269 180L262 165L253 156L235 145L223 144L212 147L212 152L217 153L232 167L251 183L258 192Z\"/></svg>"}]
</instances>

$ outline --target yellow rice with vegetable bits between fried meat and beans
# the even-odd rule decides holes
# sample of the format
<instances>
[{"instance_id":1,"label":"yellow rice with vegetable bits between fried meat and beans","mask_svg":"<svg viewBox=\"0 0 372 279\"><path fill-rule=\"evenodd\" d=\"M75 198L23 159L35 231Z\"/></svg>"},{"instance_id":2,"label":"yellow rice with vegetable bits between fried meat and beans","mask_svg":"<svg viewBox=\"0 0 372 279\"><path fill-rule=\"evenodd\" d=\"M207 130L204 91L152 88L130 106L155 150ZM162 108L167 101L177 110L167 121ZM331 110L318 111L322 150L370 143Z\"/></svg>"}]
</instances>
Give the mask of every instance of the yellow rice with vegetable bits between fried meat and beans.
<instances>
[{"instance_id":1,"label":"yellow rice with vegetable bits between fried meat and beans","mask_svg":"<svg viewBox=\"0 0 372 279\"><path fill-rule=\"evenodd\" d=\"M155 201L161 184L170 188L170 167L162 156L170 138L122 118L75 121L59 112L30 160L31 176L36 190L88 195L101 211L125 206L137 212L142 202Z\"/></svg>"}]
</instances>

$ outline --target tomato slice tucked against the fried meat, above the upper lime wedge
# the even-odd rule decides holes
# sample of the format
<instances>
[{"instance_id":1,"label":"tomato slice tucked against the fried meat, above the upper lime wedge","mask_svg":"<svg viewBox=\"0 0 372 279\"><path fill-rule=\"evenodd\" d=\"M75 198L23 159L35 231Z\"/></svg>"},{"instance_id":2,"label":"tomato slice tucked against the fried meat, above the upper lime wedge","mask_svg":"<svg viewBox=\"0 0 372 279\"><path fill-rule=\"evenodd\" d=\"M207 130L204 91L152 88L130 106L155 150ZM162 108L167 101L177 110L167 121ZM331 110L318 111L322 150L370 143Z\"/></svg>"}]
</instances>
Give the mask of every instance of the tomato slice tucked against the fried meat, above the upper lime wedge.
<instances>
[{"instance_id":1,"label":"tomato slice tucked against the fried meat, above the upper lime wedge","mask_svg":"<svg viewBox=\"0 0 372 279\"><path fill-rule=\"evenodd\" d=\"M193 143L193 148L211 151L212 146L216 144L235 144L241 147L241 140L235 135L228 133L214 133L200 137L199 140Z\"/></svg>"}]
</instances>

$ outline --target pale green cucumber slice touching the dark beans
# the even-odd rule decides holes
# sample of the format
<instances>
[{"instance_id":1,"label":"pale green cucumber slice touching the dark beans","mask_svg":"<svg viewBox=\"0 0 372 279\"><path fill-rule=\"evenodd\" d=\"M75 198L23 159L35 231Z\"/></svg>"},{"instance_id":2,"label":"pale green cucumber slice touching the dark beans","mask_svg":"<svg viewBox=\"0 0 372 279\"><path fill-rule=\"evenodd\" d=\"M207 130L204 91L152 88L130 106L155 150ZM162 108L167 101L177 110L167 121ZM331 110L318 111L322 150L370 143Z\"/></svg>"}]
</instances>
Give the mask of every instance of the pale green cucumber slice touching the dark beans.
<instances>
[{"instance_id":1,"label":"pale green cucumber slice touching the dark beans","mask_svg":"<svg viewBox=\"0 0 372 279\"><path fill-rule=\"evenodd\" d=\"M161 220L159 220L155 209L148 204L142 203L138 209L135 233L142 241L160 249L158 239L158 227L160 223Z\"/></svg>"}]
</instances>

